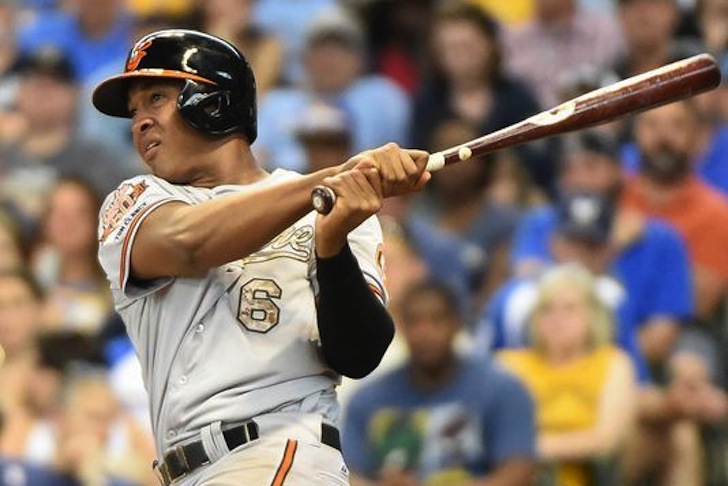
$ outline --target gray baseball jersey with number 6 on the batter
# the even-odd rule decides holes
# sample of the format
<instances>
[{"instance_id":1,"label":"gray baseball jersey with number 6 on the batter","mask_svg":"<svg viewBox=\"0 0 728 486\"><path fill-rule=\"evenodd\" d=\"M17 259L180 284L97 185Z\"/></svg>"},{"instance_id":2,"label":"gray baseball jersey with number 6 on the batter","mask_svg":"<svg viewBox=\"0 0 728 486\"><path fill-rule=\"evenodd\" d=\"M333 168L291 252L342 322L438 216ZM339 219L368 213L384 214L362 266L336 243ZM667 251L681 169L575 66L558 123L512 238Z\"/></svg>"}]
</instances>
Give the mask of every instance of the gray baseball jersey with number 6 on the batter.
<instances>
[{"instance_id":1,"label":"gray baseball jersey with number 6 on the batter","mask_svg":"<svg viewBox=\"0 0 728 486\"><path fill-rule=\"evenodd\" d=\"M160 453L215 421L288 410L337 421L340 377L321 358L316 322L314 212L260 251L204 277L129 277L134 237L155 208L171 201L199 204L295 177L277 170L252 185L208 189L145 175L122 183L102 206L99 258L141 361ZM385 301L376 217L349 242Z\"/></svg>"}]
</instances>

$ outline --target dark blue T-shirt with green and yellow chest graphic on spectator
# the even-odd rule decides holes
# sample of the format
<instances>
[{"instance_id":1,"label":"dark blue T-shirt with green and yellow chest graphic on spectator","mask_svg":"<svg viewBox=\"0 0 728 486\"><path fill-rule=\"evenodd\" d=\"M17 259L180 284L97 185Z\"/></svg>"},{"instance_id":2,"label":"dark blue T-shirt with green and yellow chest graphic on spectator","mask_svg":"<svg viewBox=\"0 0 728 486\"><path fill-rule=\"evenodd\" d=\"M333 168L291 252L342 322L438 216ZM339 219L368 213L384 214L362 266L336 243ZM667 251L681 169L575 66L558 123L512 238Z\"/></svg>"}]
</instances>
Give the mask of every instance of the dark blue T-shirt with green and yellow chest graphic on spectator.
<instances>
[{"instance_id":1,"label":"dark blue T-shirt with green and yellow chest graphic on spectator","mask_svg":"<svg viewBox=\"0 0 728 486\"><path fill-rule=\"evenodd\" d=\"M523 385L490 360L464 358L437 390L418 389L408 365L363 385L346 413L343 449L357 474L376 478L402 468L425 484L484 476L503 461L534 458L535 434Z\"/></svg>"}]
</instances>

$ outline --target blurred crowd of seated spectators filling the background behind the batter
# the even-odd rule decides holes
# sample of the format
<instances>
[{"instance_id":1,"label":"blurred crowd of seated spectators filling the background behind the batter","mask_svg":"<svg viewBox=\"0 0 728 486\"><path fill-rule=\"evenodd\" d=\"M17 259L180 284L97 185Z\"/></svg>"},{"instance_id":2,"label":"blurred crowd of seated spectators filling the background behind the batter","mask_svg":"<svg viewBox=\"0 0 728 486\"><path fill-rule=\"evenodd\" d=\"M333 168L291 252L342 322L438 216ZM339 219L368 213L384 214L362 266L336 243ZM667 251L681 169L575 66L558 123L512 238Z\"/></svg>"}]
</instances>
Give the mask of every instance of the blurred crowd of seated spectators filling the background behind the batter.
<instances>
[{"instance_id":1,"label":"blurred crowd of seated spectators filling the background behind the batter","mask_svg":"<svg viewBox=\"0 0 728 486\"><path fill-rule=\"evenodd\" d=\"M95 84L224 37L268 170L431 152L698 53L728 0L0 0L0 486L156 484L96 259L145 172ZM436 172L380 215L397 335L340 388L353 485L728 485L728 80Z\"/></svg>"}]
</instances>

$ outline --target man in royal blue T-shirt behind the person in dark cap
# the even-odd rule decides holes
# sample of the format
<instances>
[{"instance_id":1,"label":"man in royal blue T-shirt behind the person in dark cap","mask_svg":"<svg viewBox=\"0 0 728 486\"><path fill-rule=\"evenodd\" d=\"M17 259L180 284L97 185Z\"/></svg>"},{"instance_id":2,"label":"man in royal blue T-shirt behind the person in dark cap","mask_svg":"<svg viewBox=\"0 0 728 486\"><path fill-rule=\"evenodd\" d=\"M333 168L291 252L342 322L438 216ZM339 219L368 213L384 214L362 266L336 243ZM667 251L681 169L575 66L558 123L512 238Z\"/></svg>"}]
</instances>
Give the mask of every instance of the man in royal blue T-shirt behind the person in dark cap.
<instances>
[{"instance_id":1,"label":"man in royal blue T-shirt behind the person in dark cap","mask_svg":"<svg viewBox=\"0 0 728 486\"><path fill-rule=\"evenodd\" d=\"M630 321L639 333L639 349L653 369L664 368L678 330L694 315L685 242L664 222L619 205L625 174L613 140L586 131L567 137L563 147L561 190L601 194L616 206L609 272L622 282L630 298ZM550 239L557 221L555 205L535 208L523 217L511 255L517 277L536 276L553 261Z\"/></svg>"}]
</instances>

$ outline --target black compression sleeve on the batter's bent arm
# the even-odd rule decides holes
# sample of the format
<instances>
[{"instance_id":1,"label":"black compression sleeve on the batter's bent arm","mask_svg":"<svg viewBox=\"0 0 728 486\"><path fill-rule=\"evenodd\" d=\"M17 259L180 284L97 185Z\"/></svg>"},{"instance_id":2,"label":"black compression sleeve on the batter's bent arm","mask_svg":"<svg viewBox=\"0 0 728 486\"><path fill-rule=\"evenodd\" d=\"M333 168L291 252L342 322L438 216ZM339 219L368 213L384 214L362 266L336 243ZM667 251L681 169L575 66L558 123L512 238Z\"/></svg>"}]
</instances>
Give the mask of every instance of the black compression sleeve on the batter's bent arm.
<instances>
[{"instance_id":1,"label":"black compression sleeve on the batter's bent arm","mask_svg":"<svg viewBox=\"0 0 728 486\"><path fill-rule=\"evenodd\" d=\"M318 329L324 359L337 373L362 378L377 367L394 337L394 323L374 295L349 245L317 258Z\"/></svg>"}]
</instances>

